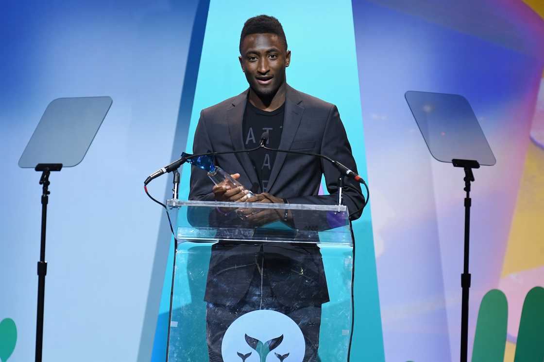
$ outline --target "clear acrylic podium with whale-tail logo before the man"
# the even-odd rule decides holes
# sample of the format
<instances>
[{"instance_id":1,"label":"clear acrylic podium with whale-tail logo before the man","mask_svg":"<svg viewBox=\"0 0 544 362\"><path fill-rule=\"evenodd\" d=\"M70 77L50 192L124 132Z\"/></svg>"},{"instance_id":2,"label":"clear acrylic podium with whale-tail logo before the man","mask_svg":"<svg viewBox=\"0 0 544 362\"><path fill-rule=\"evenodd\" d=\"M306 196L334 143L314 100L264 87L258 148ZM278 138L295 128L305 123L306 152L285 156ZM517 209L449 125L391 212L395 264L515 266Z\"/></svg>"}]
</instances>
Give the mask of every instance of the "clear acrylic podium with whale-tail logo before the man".
<instances>
[{"instance_id":1,"label":"clear acrylic podium with whale-tail logo before the man","mask_svg":"<svg viewBox=\"0 0 544 362\"><path fill-rule=\"evenodd\" d=\"M178 240L169 361L208 361L207 340L214 340L225 362L300 362L307 348L298 327L304 312L297 320L284 309L308 304L322 307L319 360L347 361L354 240L345 206L180 200L167 205L177 211ZM208 302L229 307L252 300L248 279L257 272L260 304L256 295L256 307L237 314L224 335L213 335ZM282 310L262 307L263 275Z\"/></svg>"}]
</instances>

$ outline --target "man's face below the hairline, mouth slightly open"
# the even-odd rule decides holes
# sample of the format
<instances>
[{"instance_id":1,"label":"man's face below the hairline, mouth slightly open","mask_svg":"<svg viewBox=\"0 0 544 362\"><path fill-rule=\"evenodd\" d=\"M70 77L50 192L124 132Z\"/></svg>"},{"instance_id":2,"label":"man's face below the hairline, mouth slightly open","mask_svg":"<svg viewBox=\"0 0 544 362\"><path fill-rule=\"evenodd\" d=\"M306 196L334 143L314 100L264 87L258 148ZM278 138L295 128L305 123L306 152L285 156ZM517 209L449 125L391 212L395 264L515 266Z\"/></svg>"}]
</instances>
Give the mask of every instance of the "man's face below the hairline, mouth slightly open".
<instances>
[{"instance_id":1,"label":"man's face below the hairline, mouth slightly open","mask_svg":"<svg viewBox=\"0 0 544 362\"><path fill-rule=\"evenodd\" d=\"M250 34L242 42L240 65L251 89L262 97L273 97L285 82L291 52L276 34Z\"/></svg>"}]
</instances>

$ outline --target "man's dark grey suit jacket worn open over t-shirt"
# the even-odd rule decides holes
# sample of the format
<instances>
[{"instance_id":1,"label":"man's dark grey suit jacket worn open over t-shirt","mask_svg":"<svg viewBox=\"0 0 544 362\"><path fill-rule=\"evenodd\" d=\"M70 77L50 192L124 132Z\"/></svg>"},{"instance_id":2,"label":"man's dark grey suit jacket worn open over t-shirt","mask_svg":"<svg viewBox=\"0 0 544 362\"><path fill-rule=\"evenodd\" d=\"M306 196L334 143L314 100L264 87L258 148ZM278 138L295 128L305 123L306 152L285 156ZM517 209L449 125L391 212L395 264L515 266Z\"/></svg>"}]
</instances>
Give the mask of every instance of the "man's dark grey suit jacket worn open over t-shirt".
<instances>
[{"instance_id":1,"label":"man's dark grey suit jacket worn open over t-shirt","mask_svg":"<svg viewBox=\"0 0 544 362\"><path fill-rule=\"evenodd\" d=\"M248 90L236 97L202 110L196 127L193 153L221 152L244 149L242 120ZM296 91L287 86L285 119L280 149L320 153L343 163L356 172L355 160L344 126L335 105ZM257 174L248 154L226 154L216 157L228 173L239 173L246 188L261 193ZM330 195L318 195L325 176ZM338 170L329 162L304 155L277 153L268 183L268 192L291 204L325 204L337 202ZM352 180L351 187L360 189ZM213 183L200 168L191 169L190 200L214 200ZM364 199L349 188L343 202L350 212L360 208ZM353 219L360 216L354 215ZM254 274L255 257L260 246L223 244L212 247L205 300L235 304L245 295ZM265 252L265 274L268 274L275 296L283 304L321 304L329 300L323 262L316 246L268 246ZM232 268L232 265L245 265ZM293 275L304 270L304 275ZM229 272L225 272L228 270Z\"/></svg>"}]
</instances>

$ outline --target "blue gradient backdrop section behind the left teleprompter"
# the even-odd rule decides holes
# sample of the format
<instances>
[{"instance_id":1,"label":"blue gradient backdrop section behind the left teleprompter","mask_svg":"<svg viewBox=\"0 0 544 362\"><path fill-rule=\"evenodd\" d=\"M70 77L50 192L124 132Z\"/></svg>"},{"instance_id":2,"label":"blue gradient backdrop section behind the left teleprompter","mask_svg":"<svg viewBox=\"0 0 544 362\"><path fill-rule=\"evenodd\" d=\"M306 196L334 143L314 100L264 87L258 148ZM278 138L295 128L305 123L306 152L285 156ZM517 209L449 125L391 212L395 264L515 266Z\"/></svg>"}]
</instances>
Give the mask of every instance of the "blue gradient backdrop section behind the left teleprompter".
<instances>
[{"instance_id":1,"label":"blue gradient backdrop section behind the left teleprompter","mask_svg":"<svg viewBox=\"0 0 544 362\"><path fill-rule=\"evenodd\" d=\"M18 329L10 362L33 360L40 242L40 175L17 161L47 104L79 96L113 105L84 161L51 175L44 360L150 360L160 299L160 284L150 293L153 262L163 261L162 283L168 249L157 245L169 240L158 238L168 224L143 180L169 162L183 129L186 65L200 55L189 55L197 5L2 2L0 321ZM153 183L158 198L166 183Z\"/></svg>"}]
</instances>

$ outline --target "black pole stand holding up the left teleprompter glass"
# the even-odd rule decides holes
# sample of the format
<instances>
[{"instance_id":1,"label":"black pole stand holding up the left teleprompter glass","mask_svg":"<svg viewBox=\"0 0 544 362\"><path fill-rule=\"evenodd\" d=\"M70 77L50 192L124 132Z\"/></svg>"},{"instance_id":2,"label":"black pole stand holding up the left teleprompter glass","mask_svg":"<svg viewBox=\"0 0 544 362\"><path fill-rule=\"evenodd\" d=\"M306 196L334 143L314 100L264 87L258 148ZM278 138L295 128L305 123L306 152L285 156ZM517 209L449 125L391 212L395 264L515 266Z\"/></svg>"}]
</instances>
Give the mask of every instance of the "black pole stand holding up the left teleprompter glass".
<instances>
[{"instance_id":1,"label":"black pole stand holding up the left teleprompter glass","mask_svg":"<svg viewBox=\"0 0 544 362\"><path fill-rule=\"evenodd\" d=\"M47 262L45 261L45 230L47 225L47 204L49 203L49 175L51 171L60 171L62 163L39 163L34 170L40 172L41 194L41 239L40 261L38 262L38 310L36 312L36 362L41 362L42 346L44 344L44 300L45 300L45 276L47 274Z\"/></svg>"}]
</instances>

